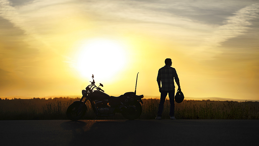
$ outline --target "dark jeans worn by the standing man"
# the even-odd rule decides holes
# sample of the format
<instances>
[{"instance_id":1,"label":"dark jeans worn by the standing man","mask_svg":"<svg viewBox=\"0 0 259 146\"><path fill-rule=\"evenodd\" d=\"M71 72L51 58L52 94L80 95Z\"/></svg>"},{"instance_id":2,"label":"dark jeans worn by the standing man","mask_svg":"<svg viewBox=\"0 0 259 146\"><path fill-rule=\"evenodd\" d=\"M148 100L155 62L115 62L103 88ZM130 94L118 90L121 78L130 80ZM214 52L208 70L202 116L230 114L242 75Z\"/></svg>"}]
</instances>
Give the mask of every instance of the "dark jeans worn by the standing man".
<instances>
[{"instance_id":1,"label":"dark jeans worn by the standing man","mask_svg":"<svg viewBox=\"0 0 259 146\"><path fill-rule=\"evenodd\" d=\"M166 100L167 93L168 93L169 102L170 102L169 116L170 117L174 116L174 112L175 112L175 89L170 90L170 91L164 91L164 90L161 91L160 103L159 103L158 112L157 112L157 116L159 116L159 117L162 116L162 112L163 112L163 108L164 108L164 101Z\"/></svg>"}]
</instances>

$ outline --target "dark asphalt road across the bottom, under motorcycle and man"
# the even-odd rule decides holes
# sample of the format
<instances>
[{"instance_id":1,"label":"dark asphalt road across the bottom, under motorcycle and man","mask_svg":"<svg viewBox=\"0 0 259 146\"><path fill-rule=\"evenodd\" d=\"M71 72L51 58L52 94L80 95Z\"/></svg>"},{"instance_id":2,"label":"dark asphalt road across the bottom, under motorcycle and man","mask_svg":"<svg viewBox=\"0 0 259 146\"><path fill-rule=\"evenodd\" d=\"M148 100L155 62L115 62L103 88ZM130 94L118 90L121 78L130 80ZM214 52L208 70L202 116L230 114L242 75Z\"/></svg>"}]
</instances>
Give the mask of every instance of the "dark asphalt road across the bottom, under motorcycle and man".
<instances>
[{"instance_id":1,"label":"dark asphalt road across the bottom, under motorcycle and man","mask_svg":"<svg viewBox=\"0 0 259 146\"><path fill-rule=\"evenodd\" d=\"M0 121L0 145L257 145L259 120Z\"/></svg>"}]
</instances>

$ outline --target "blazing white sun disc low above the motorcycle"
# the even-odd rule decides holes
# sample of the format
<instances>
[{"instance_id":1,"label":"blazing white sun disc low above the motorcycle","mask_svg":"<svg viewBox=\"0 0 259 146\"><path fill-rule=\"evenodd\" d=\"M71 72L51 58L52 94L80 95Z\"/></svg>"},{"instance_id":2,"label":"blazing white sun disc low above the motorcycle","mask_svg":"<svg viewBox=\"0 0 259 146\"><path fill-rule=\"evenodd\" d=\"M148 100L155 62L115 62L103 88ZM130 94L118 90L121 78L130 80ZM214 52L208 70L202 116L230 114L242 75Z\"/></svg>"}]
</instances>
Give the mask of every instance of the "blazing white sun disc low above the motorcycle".
<instances>
[{"instance_id":1,"label":"blazing white sun disc low above the motorcycle","mask_svg":"<svg viewBox=\"0 0 259 146\"><path fill-rule=\"evenodd\" d=\"M77 69L85 78L109 80L125 66L126 54L122 45L111 40L91 40L83 44Z\"/></svg>"}]
</instances>

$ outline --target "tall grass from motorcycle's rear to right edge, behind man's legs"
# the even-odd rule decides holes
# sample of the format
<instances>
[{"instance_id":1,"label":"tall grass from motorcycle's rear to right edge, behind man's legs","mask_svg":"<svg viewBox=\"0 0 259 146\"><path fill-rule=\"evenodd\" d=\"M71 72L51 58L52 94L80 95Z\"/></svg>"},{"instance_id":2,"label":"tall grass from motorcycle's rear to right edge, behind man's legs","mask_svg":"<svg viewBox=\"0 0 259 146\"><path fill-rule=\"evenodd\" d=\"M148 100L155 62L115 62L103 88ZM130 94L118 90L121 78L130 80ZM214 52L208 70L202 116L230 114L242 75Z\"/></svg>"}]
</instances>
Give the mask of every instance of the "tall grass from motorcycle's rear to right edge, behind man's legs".
<instances>
[{"instance_id":1,"label":"tall grass from motorcycle's rear to right edge, behind man's legs","mask_svg":"<svg viewBox=\"0 0 259 146\"><path fill-rule=\"evenodd\" d=\"M179 106L180 105L180 106ZM154 119L157 115L159 100L151 99L142 105L141 119ZM161 119L170 119L170 103L166 99ZM176 119L259 119L259 108L251 101L233 102L206 105L193 105L184 100L175 105Z\"/></svg>"}]
</instances>

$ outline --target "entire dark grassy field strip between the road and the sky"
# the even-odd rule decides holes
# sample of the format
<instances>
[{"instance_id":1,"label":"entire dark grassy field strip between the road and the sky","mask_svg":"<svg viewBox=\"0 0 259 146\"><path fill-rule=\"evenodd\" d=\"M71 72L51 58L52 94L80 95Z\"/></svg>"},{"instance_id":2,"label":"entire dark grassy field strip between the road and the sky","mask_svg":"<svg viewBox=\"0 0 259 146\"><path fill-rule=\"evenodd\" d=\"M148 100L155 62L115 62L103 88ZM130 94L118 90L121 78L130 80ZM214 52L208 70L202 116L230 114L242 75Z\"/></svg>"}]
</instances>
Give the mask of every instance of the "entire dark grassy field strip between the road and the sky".
<instances>
[{"instance_id":1,"label":"entire dark grassy field strip between the road and the sky","mask_svg":"<svg viewBox=\"0 0 259 146\"><path fill-rule=\"evenodd\" d=\"M54 99L12 99L0 100L0 120L51 120L67 119L66 109L78 98L60 97ZM143 99L139 119L154 119L159 99ZM91 106L83 119L95 119ZM162 119L169 119L169 100L164 103ZM259 102L234 102L210 100L184 100L175 102L176 119L259 119ZM125 119L117 113L111 117L97 119Z\"/></svg>"}]
</instances>

